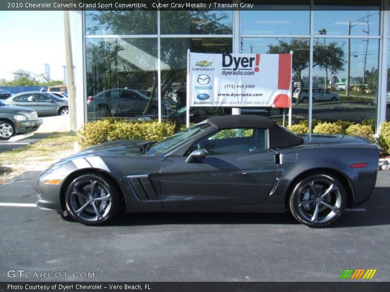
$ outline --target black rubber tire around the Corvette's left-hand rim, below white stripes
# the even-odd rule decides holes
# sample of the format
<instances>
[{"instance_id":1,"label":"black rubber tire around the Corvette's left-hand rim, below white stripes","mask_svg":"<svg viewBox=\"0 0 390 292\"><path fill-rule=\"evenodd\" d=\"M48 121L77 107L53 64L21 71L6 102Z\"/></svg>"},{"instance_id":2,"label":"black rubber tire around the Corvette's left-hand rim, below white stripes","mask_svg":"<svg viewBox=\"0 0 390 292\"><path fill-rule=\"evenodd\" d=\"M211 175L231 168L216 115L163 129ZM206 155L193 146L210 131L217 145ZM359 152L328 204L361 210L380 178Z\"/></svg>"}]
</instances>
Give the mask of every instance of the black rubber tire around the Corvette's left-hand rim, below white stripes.
<instances>
[{"instance_id":1,"label":"black rubber tire around the Corvette's left-hand rim, below white stripes","mask_svg":"<svg viewBox=\"0 0 390 292\"><path fill-rule=\"evenodd\" d=\"M109 213L104 217L103 219L97 220L97 221L86 221L84 219L79 218L72 210L70 200L71 200L71 191L72 188L75 186L75 184L87 180L87 179L94 179L99 181L99 183L102 183L110 192L111 194L111 209ZM78 176L75 178L67 187L66 193L65 193L65 208L68 214L74 219L75 221L78 221L85 225L102 225L109 220L113 219L115 215L117 214L118 208L120 203L120 197L119 197L119 191L117 186L111 182L111 180L107 179L104 176L97 175L97 174L85 174Z\"/></svg>"}]
</instances>

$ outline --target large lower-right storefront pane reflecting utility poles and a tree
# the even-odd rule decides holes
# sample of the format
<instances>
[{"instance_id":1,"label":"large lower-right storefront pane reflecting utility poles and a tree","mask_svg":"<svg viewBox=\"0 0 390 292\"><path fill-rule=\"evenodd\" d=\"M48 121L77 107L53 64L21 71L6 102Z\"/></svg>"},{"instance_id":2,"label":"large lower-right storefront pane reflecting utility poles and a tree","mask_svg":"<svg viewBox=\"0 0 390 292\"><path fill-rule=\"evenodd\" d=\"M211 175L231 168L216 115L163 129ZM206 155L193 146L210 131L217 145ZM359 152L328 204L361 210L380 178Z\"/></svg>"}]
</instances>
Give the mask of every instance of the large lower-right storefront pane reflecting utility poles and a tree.
<instances>
[{"instance_id":1,"label":"large lower-right storefront pane reflecting utility poles and a tree","mask_svg":"<svg viewBox=\"0 0 390 292\"><path fill-rule=\"evenodd\" d=\"M378 39L352 38L349 49L345 38L314 39L313 119L375 122L378 49Z\"/></svg>"}]
</instances>

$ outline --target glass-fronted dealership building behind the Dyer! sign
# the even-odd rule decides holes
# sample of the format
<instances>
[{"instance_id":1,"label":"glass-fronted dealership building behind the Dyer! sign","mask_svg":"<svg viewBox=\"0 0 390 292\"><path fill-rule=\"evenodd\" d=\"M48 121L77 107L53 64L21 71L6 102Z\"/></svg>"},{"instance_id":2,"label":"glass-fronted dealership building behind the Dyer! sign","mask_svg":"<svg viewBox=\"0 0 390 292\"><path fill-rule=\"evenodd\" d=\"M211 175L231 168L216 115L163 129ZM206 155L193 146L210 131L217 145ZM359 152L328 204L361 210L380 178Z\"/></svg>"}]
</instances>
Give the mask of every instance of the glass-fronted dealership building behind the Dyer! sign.
<instances>
[{"instance_id":1,"label":"glass-fronted dealership building behind the Dyer! sign","mask_svg":"<svg viewBox=\"0 0 390 292\"><path fill-rule=\"evenodd\" d=\"M180 104L172 99L186 87L188 50L292 51L292 122L344 120L378 128L390 119L389 0L256 1L252 8L242 9L241 2L233 2L238 8L207 11L70 13L78 127L107 116L142 112L138 105L142 97L127 89L153 95L153 112L164 115L167 102L171 111L176 105L178 109ZM302 86L307 98L301 95L295 102ZM103 104L108 99L115 102ZM213 113L203 110L205 115ZM270 114L269 109L258 112Z\"/></svg>"}]
</instances>

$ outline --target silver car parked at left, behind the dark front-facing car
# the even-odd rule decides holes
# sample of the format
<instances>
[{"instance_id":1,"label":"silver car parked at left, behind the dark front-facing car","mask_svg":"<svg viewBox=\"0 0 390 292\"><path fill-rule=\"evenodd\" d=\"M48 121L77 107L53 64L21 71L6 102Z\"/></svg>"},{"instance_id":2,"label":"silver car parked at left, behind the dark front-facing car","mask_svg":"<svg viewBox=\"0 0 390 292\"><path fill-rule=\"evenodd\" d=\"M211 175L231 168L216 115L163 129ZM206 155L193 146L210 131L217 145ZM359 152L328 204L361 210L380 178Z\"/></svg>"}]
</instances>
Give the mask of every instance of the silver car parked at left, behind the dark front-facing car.
<instances>
[{"instance_id":1,"label":"silver car parked at left, behind the dark front-facing car","mask_svg":"<svg viewBox=\"0 0 390 292\"><path fill-rule=\"evenodd\" d=\"M15 94L6 104L35 110L41 115L65 115L69 113L68 101L50 92L27 91Z\"/></svg>"}]
</instances>

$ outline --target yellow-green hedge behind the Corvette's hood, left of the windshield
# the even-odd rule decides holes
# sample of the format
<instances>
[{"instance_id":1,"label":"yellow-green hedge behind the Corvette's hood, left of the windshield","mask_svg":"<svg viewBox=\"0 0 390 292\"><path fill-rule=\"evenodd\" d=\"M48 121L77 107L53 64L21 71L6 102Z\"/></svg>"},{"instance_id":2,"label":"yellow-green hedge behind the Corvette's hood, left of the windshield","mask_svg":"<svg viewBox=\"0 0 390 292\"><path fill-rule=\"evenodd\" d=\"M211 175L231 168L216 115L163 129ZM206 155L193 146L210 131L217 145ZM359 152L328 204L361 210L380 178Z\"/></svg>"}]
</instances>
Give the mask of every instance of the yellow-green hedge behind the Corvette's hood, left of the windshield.
<instances>
[{"instance_id":1,"label":"yellow-green hedge behind the Corvette's hood, left of the windshield","mask_svg":"<svg viewBox=\"0 0 390 292\"><path fill-rule=\"evenodd\" d=\"M175 124L164 122L128 122L106 119L84 124L78 130L78 144L82 149L117 140L160 141L175 132Z\"/></svg>"}]
</instances>

